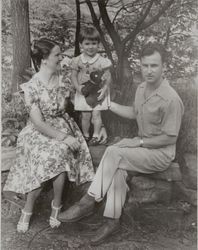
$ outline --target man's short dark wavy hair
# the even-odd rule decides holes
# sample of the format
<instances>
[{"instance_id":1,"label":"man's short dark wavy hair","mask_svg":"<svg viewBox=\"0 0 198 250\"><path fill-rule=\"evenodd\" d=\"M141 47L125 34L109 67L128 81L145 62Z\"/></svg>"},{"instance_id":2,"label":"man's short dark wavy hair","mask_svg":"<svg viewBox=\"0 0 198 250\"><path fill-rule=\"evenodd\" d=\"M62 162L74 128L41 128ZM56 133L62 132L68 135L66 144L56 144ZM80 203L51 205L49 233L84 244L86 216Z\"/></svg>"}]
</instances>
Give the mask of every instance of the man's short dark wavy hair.
<instances>
[{"instance_id":1,"label":"man's short dark wavy hair","mask_svg":"<svg viewBox=\"0 0 198 250\"><path fill-rule=\"evenodd\" d=\"M166 61L166 51L164 47L160 43L157 43L157 42L149 42L146 45L144 45L140 53L140 60L144 56L153 55L155 52L158 52L160 54L162 63L164 63Z\"/></svg>"}]
</instances>

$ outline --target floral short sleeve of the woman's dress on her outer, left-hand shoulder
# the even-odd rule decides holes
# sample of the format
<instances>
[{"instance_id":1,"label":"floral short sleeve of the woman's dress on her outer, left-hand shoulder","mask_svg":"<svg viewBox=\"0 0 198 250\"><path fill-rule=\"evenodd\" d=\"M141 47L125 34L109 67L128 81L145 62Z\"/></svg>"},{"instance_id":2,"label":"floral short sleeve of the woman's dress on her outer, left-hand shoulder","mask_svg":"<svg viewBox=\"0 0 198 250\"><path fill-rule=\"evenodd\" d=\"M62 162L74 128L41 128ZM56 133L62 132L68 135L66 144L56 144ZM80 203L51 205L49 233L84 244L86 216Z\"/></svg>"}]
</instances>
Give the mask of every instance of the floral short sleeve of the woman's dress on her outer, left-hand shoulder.
<instances>
[{"instance_id":1,"label":"floral short sleeve of the woman's dress on her outer, left-hand shoulder","mask_svg":"<svg viewBox=\"0 0 198 250\"><path fill-rule=\"evenodd\" d=\"M39 108L39 97L36 88L32 85L32 82L26 82L20 85L21 89L24 91L25 106L28 113L33 108Z\"/></svg>"}]
</instances>

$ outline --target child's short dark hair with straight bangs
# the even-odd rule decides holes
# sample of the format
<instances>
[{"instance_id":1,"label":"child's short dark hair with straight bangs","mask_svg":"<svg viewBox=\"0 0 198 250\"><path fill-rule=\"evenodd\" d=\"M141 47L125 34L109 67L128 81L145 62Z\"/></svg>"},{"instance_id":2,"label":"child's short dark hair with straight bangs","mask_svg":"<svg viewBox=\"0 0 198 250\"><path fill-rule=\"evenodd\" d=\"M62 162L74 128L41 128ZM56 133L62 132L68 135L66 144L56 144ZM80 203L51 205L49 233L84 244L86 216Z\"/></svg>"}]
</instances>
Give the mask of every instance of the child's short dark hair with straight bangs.
<instances>
[{"instance_id":1,"label":"child's short dark hair with straight bangs","mask_svg":"<svg viewBox=\"0 0 198 250\"><path fill-rule=\"evenodd\" d=\"M84 26L79 35L79 42L82 43L85 39L100 42L100 34L93 26Z\"/></svg>"}]
</instances>

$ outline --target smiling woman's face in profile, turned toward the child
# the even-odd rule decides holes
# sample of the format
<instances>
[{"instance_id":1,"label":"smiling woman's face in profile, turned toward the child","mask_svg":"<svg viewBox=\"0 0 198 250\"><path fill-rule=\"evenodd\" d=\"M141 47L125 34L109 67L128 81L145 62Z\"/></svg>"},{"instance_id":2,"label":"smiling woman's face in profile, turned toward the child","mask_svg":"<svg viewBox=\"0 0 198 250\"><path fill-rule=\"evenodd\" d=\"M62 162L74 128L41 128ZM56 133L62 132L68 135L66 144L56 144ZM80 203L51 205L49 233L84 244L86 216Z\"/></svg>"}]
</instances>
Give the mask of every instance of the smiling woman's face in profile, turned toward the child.
<instances>
[{"instance_id":1,"label":"smiling woman's face in profile, turned toward the child","mask_svg":"<svg viewBox=\"0 0 198 250\"><path fill-rule=\"evenodd\" d=\"M62 60L61 50L58 45L54 46L49 54L48 58L45 59L45 65L53 72L60 69L60 62Z\"/></svg>"}]
</instances>

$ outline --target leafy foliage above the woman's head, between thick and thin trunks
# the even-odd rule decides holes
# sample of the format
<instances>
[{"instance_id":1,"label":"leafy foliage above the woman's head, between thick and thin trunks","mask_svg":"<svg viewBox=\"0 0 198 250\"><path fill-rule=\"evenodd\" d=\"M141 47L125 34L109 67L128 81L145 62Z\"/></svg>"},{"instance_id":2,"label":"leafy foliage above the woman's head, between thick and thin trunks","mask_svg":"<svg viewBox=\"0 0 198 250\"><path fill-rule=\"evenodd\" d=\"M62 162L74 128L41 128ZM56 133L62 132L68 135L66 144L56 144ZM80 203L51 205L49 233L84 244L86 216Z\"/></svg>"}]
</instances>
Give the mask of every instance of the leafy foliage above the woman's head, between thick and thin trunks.
<instances>
[{"instance_id":1,"label":"leafy foliage above the woman's head, between thick and thin trunks","mask_svg":"<svg viewBox=\"0 0 198 250\"><path fill-rule=\"evenodd\" d=\"M65 47L73 45L75 13L66 1L34 1L30 5L30 31L32 40L45 36Z\"/></svg>"}]
</instances>

